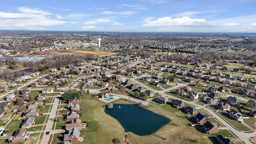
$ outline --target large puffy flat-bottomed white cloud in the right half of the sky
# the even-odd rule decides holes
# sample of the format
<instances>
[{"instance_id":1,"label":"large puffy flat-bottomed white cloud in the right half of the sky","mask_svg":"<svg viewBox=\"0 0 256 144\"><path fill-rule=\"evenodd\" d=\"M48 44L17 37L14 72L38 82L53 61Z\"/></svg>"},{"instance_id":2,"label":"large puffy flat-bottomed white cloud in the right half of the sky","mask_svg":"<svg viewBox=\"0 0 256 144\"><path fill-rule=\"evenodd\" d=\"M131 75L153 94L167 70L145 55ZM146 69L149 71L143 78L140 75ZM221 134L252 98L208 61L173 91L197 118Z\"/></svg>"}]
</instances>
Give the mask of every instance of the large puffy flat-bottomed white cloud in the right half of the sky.
<instances>
[{"instance_id":1,"label":"large puffy flat-bottomed white cloud in the right half of the sky","mask_svg":"<svg viewBox=\"0 0 256 144\"><path fill-rule=\"evenodd\" d=\"M192 19L189 17L182 17L182 18L158 18L157 20L144 20L146 24L143 26L184 26L184 27L193 27L193 26L212 26L209 22L204 19Z\"/></svg>"}]
</instances>

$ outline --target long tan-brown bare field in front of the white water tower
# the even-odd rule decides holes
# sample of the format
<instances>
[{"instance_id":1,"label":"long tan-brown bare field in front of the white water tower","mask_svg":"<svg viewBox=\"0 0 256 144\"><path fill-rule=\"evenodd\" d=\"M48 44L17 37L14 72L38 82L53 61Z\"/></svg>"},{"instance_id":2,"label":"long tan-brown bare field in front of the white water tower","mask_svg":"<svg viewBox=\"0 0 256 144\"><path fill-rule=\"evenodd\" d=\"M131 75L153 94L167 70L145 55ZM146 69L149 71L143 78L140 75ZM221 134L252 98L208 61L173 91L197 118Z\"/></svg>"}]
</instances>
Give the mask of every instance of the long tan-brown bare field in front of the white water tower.
<instances>
[{"instance_id":1,"label":"long tan-brown bare field in front of the white water tower","mask_svg":"<svg viewBox=\"0 0 256 144\"><path fill-rule=\"evenodd\" d=\"M96 57L103 57L103 56L112 56L115 55L115 52L102 52L102 51L96 51L96 50L86 50L86 49L74 49L74 50L46 50L44 52L38 52L40 56L51 56L56 54L80 54L80 55L86 55L86 54L94 54Z\"/></svg>"}]
</instances>

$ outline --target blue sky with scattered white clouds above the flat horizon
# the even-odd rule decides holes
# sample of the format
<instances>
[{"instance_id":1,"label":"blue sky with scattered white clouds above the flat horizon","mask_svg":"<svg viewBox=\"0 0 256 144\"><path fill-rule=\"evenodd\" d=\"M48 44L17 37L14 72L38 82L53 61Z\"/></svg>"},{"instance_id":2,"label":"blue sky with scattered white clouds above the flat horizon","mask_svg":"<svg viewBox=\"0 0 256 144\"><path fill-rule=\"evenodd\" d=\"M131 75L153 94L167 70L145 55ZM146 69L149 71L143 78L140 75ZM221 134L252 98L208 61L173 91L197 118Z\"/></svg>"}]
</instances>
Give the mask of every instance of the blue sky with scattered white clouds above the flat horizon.
<instances>
[{"instance_id":1,"label":"blue sky with scattered white clouds above the flat horizon","mask_svg":"<svg viewBox=\"0 0 256 144\"><path fill-rule=\"evenodd\" d=\"M255 6L256 0L3 0L0 30L256 32Z\"/></svg>"}]
</instances>

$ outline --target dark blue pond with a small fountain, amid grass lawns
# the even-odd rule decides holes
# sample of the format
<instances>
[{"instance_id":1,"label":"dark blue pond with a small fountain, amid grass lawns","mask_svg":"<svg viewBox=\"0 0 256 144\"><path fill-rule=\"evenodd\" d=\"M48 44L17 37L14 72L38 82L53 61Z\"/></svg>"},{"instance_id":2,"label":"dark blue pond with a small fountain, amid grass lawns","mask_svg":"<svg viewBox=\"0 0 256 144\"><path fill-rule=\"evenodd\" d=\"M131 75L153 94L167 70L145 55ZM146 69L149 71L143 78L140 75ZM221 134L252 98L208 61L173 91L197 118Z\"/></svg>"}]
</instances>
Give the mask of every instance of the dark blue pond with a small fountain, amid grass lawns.
<instances>
[{"instance_id":1,"label":"dark blue pond with a small fountain, amid grass lawns","mask_svg":"<svg viewBox=\"0 0 256 144\"><path fill-rule=\"evenodd\" d=\"M105 113L118 120L125 132L138 136L154 134L170 122L170 119L135 104L114 104L113 108L105 108Z\"/></svg>"}]
</instances>

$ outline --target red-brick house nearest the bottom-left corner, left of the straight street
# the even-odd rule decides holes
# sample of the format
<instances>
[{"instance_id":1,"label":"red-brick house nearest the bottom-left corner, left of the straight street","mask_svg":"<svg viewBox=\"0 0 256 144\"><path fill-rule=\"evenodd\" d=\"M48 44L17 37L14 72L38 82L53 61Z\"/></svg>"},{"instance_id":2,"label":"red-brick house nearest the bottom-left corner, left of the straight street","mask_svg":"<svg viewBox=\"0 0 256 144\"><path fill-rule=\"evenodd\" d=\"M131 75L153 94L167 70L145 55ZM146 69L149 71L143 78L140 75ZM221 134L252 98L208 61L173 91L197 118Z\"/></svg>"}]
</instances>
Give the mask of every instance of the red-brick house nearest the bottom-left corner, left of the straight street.
<instances>
[{"instance_id":1,"label":"red-brick house nearest the bottom-left corner, left of the straight street","mask_svg":"<svg viewBox=\"0 0 256 144\"><path fill-rule=\"evenodd\" d=\"M24 142L26 140L26 136L28 136L28 132L26 129L19 129L15 132L14 136L10 137L9 144L10 143L17 143L17 142Z\"/></svg>"}]
</instances>

